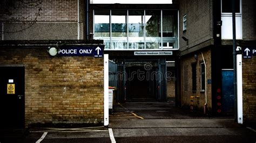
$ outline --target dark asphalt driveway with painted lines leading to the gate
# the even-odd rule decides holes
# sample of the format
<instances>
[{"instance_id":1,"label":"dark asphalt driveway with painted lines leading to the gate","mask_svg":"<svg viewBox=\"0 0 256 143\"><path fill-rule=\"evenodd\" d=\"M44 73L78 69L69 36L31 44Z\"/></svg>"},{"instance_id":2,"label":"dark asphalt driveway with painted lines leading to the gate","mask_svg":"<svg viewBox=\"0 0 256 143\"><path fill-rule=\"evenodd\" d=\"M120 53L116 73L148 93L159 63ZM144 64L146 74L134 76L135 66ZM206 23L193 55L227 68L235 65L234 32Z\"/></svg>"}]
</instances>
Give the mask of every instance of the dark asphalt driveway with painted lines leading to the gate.
<instances>
[{"instance_id":1,"label":"dark asphalt driveway with painted lines leading to the gate","mask_svg":"<svg viewBox=\"0 0 256 143\"><path fill-rule=\"evenodd\" d=\"M126 103L116 107L108 127L37 127L0 132L1 143L37 141L256 142L256 131L235 123L233 118L193 115L166 103Z\"/></svg>"}]
</instances>

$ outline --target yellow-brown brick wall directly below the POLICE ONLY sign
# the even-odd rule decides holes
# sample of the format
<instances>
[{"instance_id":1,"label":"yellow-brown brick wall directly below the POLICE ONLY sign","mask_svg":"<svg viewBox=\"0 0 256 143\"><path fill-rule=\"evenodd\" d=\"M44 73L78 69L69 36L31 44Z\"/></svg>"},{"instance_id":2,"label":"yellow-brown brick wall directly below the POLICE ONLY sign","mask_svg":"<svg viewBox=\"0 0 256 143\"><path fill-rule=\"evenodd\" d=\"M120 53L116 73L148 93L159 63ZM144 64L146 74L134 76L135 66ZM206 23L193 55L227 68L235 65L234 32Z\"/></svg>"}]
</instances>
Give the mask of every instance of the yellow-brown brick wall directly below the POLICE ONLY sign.
<instances>
[{"instance_id":1,"label":"yellow-brown brick wall directly below the POLICE ONLY sign","mask_svg":"<svg viewBox=\"0 0 256 143\"><path fill-rule=\"evenodd\" d=\"M25 66L25 124L103 121L103 59L1 48L0 65Z\"/></svg>"}]
</instances>

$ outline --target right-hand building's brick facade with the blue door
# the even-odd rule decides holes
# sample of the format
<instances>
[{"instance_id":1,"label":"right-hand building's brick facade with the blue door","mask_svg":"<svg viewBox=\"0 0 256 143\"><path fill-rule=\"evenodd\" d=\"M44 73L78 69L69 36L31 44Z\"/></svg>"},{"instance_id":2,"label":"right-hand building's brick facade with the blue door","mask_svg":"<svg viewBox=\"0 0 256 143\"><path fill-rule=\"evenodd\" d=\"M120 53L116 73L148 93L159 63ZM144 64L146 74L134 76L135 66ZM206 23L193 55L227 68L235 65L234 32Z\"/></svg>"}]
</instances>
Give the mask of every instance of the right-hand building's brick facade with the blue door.
<instances>
[{"instance_id":1,"label":"right-hand building's brick facade with the blue door","mask_svg":"<svg viewBox=\"0 0 256 143\"><path fill-rule=\"evenodd\" d=\"M255 56L245 49L255 47L254 1L236 1L236 44L241 47L242 105L245 123L255 123ZM233 88L232 1L179 1L181 56L181 105L204 108L214 115L232 115ZM236 53L238 54L238 53ZM250 74L249 74L250 73ZM248 79L250 78L250 80ZM187 80L189 79L189 80Z\"/></svg>"}]
</instances>

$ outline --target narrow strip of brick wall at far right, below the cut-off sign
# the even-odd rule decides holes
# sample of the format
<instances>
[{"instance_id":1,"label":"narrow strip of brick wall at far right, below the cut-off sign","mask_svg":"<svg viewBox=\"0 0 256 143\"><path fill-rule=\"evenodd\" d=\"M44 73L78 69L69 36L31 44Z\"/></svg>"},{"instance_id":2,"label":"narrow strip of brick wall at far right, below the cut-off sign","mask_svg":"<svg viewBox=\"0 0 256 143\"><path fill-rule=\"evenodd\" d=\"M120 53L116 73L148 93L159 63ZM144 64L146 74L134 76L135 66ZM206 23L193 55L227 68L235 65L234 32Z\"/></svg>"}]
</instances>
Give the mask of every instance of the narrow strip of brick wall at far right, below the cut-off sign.
<instances>
[{"instance_id":1,"label":"narrow strip of brick wall at far right, below the cut-off sign","mask_svg":"<svg viewBox=\"0 0 256 143\"><path fill-rule=\"evenodd\" d=\"M256 123L256 57L242 59L242 103L245 123Z\"/></svg>"}]
</instances>

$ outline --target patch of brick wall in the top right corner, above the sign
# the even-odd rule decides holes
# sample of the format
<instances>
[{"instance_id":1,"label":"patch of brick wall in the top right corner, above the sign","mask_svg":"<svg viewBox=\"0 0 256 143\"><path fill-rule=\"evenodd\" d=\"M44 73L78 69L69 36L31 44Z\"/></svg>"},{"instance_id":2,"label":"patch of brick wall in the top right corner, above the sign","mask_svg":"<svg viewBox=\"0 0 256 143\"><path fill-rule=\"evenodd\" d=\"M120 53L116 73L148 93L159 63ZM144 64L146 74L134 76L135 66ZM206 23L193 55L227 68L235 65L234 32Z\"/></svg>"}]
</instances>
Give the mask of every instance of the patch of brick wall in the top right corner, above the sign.
<instances>
[{"instance_id":1,"label":"patch of brick wall in the top right corner, above the sign","mask_svg":"<svg viewBox=\"0 0 256 143\"><path fill-rule=\"evenodd\" d=\"M242 0L242 38L256 39L256 1Z\"/></svg>"}]
</instances>

